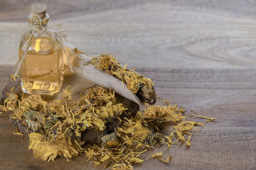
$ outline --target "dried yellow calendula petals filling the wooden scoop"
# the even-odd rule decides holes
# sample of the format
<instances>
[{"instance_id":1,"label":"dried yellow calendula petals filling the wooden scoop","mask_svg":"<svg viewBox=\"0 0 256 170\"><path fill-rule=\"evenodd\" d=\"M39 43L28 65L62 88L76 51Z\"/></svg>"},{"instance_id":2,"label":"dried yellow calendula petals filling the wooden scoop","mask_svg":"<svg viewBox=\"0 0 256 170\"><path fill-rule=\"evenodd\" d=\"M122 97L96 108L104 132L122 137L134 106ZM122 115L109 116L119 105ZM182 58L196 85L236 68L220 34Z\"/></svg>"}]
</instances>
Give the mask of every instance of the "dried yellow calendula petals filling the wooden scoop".
<instances>
[{"instance_id":1,"label":"dried yellow calendula petals filling the wooden scoop","mask_svg":"<svg viewBox=\"0 0 256 170\"><path fill-rule=\"evenodd\" d=\"M143 102L150 103L154 98L154 88L151 79L145 78L135 72L135 68L130 70L123 67L116 61L111 53L103 53L99 56L93 57L85 65L91 64L97 69L116 77L127 85L133 94L138 94Z\"/></svg>"}]
</instances>

